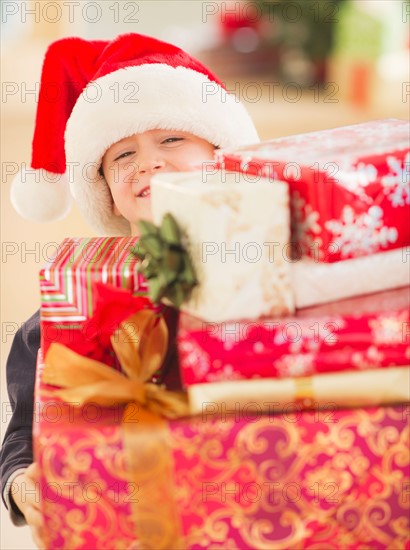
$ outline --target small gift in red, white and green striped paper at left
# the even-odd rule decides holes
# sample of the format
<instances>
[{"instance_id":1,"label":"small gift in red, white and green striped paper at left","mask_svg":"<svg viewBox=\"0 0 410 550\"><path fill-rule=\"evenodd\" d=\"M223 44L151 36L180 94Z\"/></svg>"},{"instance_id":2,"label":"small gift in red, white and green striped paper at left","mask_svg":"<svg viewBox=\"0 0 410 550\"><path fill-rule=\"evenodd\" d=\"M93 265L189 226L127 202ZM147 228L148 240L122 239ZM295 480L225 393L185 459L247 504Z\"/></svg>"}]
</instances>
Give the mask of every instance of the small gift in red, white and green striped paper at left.
<instances>
[{"instance_id":1,"label":"small gift in red, white and green striped paper at left","mask_svg":"<svg viewBox=\"0 0 410 550\"><path fill-rule=\"evenodd\" d=\"M75 345L80 340L102 343L101 327L90 326L96 306L97 282L146 294L131 254L137 237L67 238L40 272L41 336L46 354L52 342ZM100 346L102 347L102 346ZM105 358L109 362L108 358Z\"/></svg>"}]
</instances>

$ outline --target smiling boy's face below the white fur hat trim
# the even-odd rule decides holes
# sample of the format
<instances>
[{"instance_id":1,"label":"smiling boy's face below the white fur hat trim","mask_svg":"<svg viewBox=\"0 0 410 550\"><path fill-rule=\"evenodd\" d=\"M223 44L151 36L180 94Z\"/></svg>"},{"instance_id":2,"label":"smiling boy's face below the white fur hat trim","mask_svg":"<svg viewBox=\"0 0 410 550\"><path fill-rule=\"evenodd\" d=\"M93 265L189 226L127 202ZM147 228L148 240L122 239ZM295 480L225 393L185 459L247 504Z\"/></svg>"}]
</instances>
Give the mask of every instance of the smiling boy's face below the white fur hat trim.
<instances>
[{"instance_id":1,"label":"smiling boy's face below the white fur hat trim","mask_svg":"<svg viewBox=\"0 0 410 550\"><path fill-rule=\"evenodd\" d=\"M148 130L114 143L102 168L114 201L114 213L131 224L151 220L150 179L156 172L184 172L214 157L214 146L187 132Z\"/></svg>"}]
</instances>

